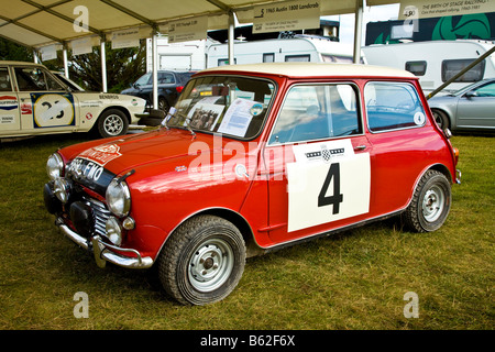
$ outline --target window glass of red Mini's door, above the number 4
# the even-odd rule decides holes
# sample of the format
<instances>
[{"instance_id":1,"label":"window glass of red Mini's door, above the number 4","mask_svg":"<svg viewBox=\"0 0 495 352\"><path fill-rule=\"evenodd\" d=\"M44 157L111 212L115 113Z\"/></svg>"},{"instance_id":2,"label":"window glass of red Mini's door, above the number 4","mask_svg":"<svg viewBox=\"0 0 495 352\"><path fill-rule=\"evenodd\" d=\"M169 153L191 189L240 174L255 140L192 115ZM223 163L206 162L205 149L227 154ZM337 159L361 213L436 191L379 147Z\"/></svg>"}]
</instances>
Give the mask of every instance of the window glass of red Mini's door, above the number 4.
<instances>
[{"instance_id":1,"label":"window glass of red Mini's door, above the number 4","mask_svg":"<svg viewBox=\"0 0 495 352\"><path fill-rule=\"evenodd\" d=\"M361 132L353 86L301 85L287 92L268 144L314 141Z\"/></svg>"}]
</instances>

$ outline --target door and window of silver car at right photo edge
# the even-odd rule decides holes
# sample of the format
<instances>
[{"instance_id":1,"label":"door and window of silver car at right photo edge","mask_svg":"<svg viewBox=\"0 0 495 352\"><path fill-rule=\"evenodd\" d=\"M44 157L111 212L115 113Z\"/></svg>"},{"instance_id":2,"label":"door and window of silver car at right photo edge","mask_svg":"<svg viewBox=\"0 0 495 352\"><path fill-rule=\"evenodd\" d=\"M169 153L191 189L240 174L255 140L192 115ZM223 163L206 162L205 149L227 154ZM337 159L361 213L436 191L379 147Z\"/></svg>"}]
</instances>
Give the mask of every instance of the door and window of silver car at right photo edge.
<instances>
[{"instance_id":1,"label":"door and window of silver car at right photo edge","mask_svg":"<svg viewBox=\"0 0 495 352\"><path fill-rule=\"evenodd\" d=\"M468 92L458 101L458 128L495 128L495 81L486 82Z\"/></svg>"}]
</instances>

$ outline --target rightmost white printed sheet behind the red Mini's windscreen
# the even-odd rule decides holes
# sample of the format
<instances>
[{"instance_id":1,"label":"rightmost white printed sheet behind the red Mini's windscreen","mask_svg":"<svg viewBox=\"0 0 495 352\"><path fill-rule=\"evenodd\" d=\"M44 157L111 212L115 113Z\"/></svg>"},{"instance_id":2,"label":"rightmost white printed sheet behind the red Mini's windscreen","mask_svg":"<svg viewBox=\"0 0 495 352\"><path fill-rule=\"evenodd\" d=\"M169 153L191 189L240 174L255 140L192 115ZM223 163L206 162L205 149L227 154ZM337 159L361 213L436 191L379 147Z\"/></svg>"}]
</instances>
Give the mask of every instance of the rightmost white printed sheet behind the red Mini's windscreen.
<instances>
[{"instance_id":1,"label":"rightmost white printed sheet behind the red Mini's windscreen","mask_svg":"<svg viewBox=\"0 0 495 352\"><path fill-rule=\"evenodd\" d=\"M253 118L251 108L256 103L257 101L235 99L227 110L218 132L244 136Z\"/></svg>"}]
</instances>

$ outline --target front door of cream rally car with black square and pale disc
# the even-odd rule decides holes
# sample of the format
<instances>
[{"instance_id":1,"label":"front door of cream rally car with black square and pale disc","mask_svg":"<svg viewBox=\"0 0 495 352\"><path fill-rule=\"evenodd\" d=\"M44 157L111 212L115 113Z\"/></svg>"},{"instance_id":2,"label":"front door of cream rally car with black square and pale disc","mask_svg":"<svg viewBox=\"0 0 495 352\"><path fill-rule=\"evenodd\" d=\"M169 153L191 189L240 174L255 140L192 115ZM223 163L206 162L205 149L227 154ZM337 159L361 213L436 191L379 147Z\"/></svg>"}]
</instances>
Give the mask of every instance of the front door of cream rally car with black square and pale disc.
<instances>
[{"instance_id":1,"label":"front door of cream rally car with black square and pale disc","mask_svg":"<svg viewBox=\"0 0 495 352\"><path fill-rule=\"evenodd\" d=\"M22 131L43 134L77 130L77 101L40 66L13 67L21 103Z\"/></svg>"}]
</instances>

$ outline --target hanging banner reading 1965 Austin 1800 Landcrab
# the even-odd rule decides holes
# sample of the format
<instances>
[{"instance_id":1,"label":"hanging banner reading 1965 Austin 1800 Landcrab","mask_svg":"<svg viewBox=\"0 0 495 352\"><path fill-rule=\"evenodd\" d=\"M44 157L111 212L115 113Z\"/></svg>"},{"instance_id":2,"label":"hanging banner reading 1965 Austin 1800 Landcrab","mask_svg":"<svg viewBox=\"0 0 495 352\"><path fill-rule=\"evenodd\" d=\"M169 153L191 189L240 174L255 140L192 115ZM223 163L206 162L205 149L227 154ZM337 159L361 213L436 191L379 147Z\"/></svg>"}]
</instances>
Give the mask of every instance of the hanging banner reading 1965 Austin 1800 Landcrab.
<instances>
[{"instance_id":1,"label":"hanging banner reading 1965 Austin 1800 Landcrab","mask_svg":"<svg viewBox=\"0 0 495 352\"><path fill-rule=\"evenodd\" d=\"M254 7L253 33L309 30L320 26L320 0Z\"/></svg>"}]
</instances>

